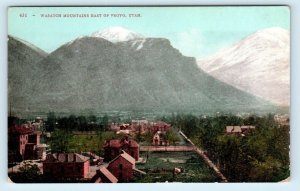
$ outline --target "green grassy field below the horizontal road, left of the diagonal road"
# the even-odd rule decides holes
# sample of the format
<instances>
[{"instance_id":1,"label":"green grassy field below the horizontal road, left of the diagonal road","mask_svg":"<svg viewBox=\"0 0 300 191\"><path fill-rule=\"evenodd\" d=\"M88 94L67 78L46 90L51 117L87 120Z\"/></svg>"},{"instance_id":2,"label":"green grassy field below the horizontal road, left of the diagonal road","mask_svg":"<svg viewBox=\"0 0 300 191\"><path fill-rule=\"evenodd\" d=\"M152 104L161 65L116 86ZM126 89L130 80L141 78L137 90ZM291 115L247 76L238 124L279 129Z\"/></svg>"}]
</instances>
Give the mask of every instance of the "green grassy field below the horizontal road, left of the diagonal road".
<instances>
[{"instance_id":1,"label":"green grassy field below the horizontal road, left of the diagonal road","mask_svg":"<svg viewBox=\"0 0 300 191\"><path fill-rule=\"evenodd\" d=\"M141 153L147 158L147 153ZM180 168L182 173L173 176L173 169ZM147 175L136 182L217 182L213 172L198 155L192 152L152 152L148 153L146 163L137 164L137 168Z\"/></svg>"}]
</instances>

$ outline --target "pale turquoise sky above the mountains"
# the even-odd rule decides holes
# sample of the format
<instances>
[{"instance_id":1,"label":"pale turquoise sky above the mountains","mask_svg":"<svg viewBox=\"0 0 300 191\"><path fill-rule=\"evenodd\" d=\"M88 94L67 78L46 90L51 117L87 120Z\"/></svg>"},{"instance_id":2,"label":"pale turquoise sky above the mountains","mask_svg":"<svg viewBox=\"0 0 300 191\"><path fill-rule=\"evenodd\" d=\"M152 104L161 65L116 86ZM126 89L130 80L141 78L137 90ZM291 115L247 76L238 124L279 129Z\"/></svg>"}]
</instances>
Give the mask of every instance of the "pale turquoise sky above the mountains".
<instances>
[{"instance_id":1,"label":"pale turquoise sky above the mountains","mask_svg":"<svg viewBox=\"0 0 300 191\"><path fill-rule=\"evenodd\" d=\"M41 17L41 14L61 14L61 17ZM87 14L89 17L66 18L63 14ZM91 14L101 14L101 17L92 18ZM113 17L112 14L125 14L126 17ZM139 14L140 17L129 17L129 14ZM145 37L168 38L183 55L202 58L265 28L289 30L290 12L287 6L8 9L8 34L48 53L75 38L113 26L124 27Z\"/></svg>"}]
</instances>

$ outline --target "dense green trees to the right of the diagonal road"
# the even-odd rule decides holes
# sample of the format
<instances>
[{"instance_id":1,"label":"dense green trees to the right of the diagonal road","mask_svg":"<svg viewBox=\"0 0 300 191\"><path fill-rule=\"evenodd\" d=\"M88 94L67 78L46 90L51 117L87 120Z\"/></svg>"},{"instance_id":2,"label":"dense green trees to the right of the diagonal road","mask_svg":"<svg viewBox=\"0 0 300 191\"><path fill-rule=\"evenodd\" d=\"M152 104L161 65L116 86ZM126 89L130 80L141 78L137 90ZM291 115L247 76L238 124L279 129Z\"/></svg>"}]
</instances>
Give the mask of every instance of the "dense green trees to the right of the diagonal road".
<instances>
[{"instance_id":1,"label":"dense green trees to the right of the diagonal road","mask_svg":"<svg viewBox=\"0 0 300 191\"><path fill-rule=\"evenodd\" d=\"M274 116L234 115L164 117L180 128L232 182L280 181L289 176L290 127L279 126ZM227 135L226 126L254 125L246 136Z\"/></svg>"}]
</instances>

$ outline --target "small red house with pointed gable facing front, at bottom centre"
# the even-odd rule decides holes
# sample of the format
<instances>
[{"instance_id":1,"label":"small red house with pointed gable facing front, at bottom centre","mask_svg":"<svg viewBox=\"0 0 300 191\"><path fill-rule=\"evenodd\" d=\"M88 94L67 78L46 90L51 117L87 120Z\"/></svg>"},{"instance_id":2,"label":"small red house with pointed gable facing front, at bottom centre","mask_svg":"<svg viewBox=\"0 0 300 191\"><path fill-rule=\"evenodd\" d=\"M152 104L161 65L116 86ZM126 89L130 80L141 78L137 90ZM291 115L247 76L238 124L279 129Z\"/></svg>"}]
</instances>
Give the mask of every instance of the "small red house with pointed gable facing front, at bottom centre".
<instances>
[{"instance_id":1,"label":"small red house with pointed gable facing front, at bottom centre","mask_svg":"<svg viewBox=\"0 0 300 191\"><path fill-rule=\"evenodd\" d=\"M119 180L119 182L129 182L130 180L133 180L135 159L123 151L110 161L107 169Z\"/></svg>"}]
</instances>

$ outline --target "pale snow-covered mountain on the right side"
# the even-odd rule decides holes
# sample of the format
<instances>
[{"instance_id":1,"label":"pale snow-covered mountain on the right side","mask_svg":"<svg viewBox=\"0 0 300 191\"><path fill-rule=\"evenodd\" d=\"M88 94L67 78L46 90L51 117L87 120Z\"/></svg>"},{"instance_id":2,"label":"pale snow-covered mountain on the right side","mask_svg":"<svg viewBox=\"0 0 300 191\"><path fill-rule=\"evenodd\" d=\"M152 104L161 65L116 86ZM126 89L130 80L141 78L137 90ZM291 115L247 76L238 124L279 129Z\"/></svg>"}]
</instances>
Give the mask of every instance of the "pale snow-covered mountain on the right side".
<instances>
[{"instance_id":1,"label":"pale snow-covered mountain on the right side","mask_svg":"<svg viewBox=\"0 0 300 191\"><path fill-rule=\"evenodd\" d=\"M290 41L282 28L258 31L198 60L211 76L277 105L289 106Z\"/></svg>"}]
</instances>

